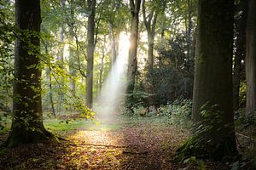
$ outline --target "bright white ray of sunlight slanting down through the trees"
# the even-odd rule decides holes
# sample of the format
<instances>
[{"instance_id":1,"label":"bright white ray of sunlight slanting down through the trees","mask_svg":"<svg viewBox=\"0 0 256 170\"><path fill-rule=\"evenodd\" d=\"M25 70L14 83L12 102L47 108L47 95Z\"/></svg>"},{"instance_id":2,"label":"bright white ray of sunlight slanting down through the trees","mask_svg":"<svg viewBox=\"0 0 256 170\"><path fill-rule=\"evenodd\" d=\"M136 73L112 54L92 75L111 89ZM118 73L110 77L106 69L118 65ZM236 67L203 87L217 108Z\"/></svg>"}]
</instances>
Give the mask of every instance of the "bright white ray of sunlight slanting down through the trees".
<instances>
[{"instance_id":1,"label":"bright white ray of sunlight slanting down through the trees","mask_svg":"<svg viewBox=\"0 0 256 170\"><path fill-rule=\"evenodd\" d=\"M117 108L125 98L125 76L127 71L129 37L125 32L120 33L119 55L113 64L107 79L103 83L102 91L96 99L94 110L98 117L111 120Z\"/></svg>"}]
</instances>

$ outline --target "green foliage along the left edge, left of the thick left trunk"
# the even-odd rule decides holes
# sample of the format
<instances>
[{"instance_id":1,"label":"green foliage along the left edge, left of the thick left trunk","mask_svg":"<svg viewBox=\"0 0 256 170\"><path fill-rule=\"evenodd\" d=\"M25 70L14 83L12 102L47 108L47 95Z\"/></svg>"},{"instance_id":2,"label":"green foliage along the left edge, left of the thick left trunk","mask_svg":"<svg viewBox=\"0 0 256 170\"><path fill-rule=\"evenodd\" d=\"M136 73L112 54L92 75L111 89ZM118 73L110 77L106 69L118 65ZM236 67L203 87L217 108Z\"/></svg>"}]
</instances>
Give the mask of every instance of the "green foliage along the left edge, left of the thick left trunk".
<instances>
[{"instance_id":1,"label":"green foliage along the left edge, left of the thick left trunk","mask_svg":"<svg viewBox=\"0 0 256 170\"><path fill-rule=\"evenodd\" d=\"M14 79L14 4L0 2L0 129L8 124Z\"/></svg>"}]
</instances>

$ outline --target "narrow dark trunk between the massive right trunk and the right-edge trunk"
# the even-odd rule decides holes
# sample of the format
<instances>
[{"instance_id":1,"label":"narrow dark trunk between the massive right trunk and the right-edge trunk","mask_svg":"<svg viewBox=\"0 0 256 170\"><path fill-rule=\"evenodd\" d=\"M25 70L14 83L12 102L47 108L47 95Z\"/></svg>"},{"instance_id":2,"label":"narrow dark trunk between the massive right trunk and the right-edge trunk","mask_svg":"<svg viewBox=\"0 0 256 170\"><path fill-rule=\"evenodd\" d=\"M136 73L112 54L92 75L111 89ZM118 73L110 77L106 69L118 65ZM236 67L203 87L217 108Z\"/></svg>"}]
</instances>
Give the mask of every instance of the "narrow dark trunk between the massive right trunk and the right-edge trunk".
<instances>
[{"instance_id":1,"label":"narrow dark trunk between the massive right trunk and the right-edge trunk","mask_svg":"<svg viewBox=\"0 0 256 170\"><path fill-rule=\"evenodd\" d=\"M236 30L236 52L234 57L234 73L233 73L233 104L234 111L239 109L239 88L241 77L241 59L244 59L246 42L246 26L247 26L247 0L241 1L241 18L237 19ZM238 12L238 11L237 11Z\"/></svg>"}]
</instances>

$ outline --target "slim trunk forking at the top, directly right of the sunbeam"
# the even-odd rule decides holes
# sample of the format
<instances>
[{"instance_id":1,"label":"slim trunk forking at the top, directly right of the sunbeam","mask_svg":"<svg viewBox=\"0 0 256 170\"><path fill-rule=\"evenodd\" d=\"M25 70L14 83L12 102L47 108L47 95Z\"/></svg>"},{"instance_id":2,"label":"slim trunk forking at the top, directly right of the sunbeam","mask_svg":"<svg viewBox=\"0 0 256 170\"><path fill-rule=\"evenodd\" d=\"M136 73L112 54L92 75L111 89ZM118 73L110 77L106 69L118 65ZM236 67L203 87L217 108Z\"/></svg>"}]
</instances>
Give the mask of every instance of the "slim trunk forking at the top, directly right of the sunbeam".
<instances>
[{"instance_id":1,"label":"slim trunk forking at the top, directly right of the sunbeam","mask_svg":"<svg viewBox=\"0 0 256 170\"><path fill-rule=\"evenodd\" d=\"M135 87L135 79L137 73L137 41L138 41L138 24L139 24L139 10L141 0L130 0L131 8L131 37L130 37L130 48L129 48L129 59L128 59L128 93L132 93Z\"/></svg>"}]
</instances>

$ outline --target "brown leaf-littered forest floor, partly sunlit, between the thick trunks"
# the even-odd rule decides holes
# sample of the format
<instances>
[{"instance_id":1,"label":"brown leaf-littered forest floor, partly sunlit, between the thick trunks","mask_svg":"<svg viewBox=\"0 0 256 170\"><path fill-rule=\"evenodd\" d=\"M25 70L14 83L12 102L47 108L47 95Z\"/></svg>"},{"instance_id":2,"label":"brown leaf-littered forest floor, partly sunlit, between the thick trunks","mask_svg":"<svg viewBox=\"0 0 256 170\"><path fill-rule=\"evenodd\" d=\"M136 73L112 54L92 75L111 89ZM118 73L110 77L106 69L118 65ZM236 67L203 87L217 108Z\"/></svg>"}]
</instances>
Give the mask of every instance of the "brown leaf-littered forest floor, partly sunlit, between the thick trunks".
<instances>
[{"instance_id":1,"label":"brown leaf-littered forest floor, partly sunlit, between the thick trunks","mask_svg":"<svg viewBox=\"0 0 256 170\"><path fill-rule=\"evenodd\" d=\"M44 124L65 140L0 148L0 169L230 169L215 161L172 161L189 130L159 117L114 116L98 125L54 119ZM0 134L0 144L7 135Z\"/></svg>"}]
</instances>

